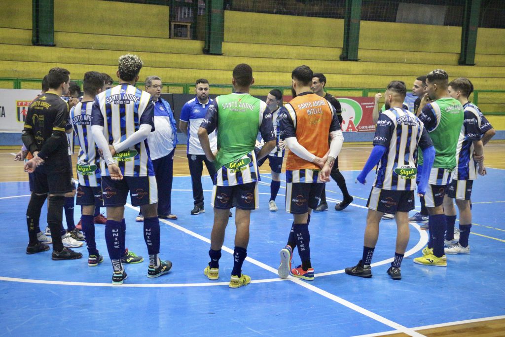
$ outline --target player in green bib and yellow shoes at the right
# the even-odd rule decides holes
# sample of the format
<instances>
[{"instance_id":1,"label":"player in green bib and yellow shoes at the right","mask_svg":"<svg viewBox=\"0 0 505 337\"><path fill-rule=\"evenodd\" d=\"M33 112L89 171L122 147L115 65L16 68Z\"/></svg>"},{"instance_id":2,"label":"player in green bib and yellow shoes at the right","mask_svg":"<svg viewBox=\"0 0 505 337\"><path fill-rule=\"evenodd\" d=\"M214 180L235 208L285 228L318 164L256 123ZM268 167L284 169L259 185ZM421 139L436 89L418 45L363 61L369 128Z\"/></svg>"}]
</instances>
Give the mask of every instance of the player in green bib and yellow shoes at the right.
<instances>
[{"instance_id":1,"label":"player in green bib and yellow shoes at the right","mask_svg":"<svg viewBox=\"0 0 505 337\"><path fill-rule=\"evenodd\" d=\"M428 187L424 195L428 209L429 241L423 249L423 256L414 259L414 263L428 266L446 267L444 254L445 215L443 198L452 171L456 167L456 148L464 111L461 103L450 97L448 91L449 76L444 70L436 69L426 76L427 93L421 100L419 119L430 133L435 147L435 161L430 172ZM427 103L427 99L432 102ZM418 154L418 165L424 165L422 153ZM422 170L418 166L418 170Z\"/></svg>"}]
</instances>

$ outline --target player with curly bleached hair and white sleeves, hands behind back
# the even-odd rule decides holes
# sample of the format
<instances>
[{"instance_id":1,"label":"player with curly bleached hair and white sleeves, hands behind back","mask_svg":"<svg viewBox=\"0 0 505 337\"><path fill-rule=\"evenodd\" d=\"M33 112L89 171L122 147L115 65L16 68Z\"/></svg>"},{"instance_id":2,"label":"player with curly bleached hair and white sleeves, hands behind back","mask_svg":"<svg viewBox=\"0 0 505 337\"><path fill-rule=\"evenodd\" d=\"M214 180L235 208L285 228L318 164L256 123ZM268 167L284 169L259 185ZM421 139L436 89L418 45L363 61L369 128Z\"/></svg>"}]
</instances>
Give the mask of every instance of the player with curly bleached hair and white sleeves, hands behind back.
<instances>
[{"instance_id":1,"label":"player with curly bleached hair and white sleeves, hands behind back","mask_svg":"<svg viewBox=\"0 0 505 337\"><path fill-rule=\"evenodd\" d=\"M107 207L105 239L113 266L113 284L123 284L127 274L121 262L124 242L124 205L128 194L133 206L144 215L144 240L149 254L147 277L158 277L172 268L160 253L158 190L147 136L154 127L151 95L134 85L142 61L135 55L119 58L119 85L100 92L93 103L91 129L95 143L103 151L100 161L102 193Z\"/></svg>"}]
</instances>

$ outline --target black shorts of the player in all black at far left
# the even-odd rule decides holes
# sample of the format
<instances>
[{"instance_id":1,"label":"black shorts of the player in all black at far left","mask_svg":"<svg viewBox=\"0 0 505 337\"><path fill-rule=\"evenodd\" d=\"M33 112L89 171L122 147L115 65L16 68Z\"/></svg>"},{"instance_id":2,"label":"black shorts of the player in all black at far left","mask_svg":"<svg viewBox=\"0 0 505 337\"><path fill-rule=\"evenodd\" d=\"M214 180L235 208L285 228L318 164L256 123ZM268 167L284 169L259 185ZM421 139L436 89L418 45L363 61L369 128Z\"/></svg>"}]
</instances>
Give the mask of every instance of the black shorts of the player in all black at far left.
<instances>
[{"instance_id":1,"label":"black shorts of the player in all black at far left","mask_svg":"<svg viewBox=\"0 0 505 337\"><path fill-rule=\"evenodd\" d=\"M67 170L67 165L62 169L38 166L31 174L31 190L35 194L65 194L75 188L72 170ZM74 187L74 188L72 188Z\"/></svg>"}]
</instances>

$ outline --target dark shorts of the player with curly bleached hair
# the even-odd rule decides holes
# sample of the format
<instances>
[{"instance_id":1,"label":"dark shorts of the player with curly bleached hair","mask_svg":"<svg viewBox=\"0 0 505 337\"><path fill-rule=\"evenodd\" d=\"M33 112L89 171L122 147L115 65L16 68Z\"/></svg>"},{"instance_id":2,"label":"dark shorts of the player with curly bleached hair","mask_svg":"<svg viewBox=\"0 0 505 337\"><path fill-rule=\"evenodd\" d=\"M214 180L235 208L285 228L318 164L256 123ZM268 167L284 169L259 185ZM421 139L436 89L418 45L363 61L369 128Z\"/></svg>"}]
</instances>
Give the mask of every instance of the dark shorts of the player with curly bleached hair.
<instances>
[{"instance_id":1,"label":"dark shorts of the player with curly bleached hair","mask_svg":"<svg viewBox=\"0 0 505 337\"><path fill-rule=\"evenodd\" d=\"M122 180L112 180L109 176L102 176L102 195L105 207L126 205L128 192L133 206L150 205L158 202L158 186L155 176L125 176Z\"/></svg>"}]
</instances>

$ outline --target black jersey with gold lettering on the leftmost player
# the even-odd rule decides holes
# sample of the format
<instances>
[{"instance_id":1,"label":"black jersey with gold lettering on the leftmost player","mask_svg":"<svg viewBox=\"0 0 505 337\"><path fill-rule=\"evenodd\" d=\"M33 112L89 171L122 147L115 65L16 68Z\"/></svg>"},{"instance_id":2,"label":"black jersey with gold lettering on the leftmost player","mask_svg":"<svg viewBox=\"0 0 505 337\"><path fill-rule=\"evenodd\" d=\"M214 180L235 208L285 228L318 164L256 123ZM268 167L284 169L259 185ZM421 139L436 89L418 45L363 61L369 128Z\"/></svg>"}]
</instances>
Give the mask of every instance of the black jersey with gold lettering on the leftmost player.
<instances>
[{"instance_id":1,"label":"black jersey with gold lettering on the leftmost player","mask_svg":"<svg viewBox=\"0 0 505 337\"><path fill-rule=\"evenodd\" d=\"M68 104L52 91L39 95L28 107L22 139L31 152L45 160L49 168L68 168L68 142L65 126Z\"/></svg>"}]
</instances>

